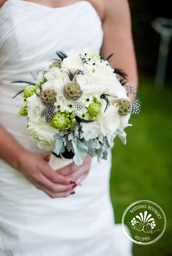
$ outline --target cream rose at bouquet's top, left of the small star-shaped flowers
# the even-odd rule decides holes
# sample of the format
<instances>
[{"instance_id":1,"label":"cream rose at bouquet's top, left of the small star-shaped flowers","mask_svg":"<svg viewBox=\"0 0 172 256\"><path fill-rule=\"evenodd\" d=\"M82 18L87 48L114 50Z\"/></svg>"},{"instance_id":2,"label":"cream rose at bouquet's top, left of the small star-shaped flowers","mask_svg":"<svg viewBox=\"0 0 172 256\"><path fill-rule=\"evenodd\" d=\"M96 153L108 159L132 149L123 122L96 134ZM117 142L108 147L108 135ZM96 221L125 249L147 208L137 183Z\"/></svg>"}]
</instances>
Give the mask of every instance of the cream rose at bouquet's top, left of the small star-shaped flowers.
<instances>
[{"instance_id":1,"label":"cream rose at bouquet's top, left of the small star-shaped flowers","mask_svg":"<svg viewBox=\"0 0 172 256\"><path fill-rule=\"evenodd\" d=\"M83 61L79 58L79 56L69 56L62 61L61 66L62 71L68 72L69 69L72 73L74 73L78 69L83 69Z\"/></svg>"}]
</instances>

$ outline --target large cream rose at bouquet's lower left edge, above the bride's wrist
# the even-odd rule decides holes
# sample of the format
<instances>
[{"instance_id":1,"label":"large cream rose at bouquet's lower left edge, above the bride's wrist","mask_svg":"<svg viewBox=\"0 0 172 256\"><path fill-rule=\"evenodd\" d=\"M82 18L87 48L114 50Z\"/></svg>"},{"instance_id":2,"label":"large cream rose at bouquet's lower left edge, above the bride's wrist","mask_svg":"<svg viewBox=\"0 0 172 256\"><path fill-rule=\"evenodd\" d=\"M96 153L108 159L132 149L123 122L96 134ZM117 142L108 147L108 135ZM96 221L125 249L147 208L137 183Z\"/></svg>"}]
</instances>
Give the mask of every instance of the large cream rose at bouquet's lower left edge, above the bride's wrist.
<instances>
[{"instance_id":1,"label":"large cream rose at bouquet's lower left edge, above the bride's wrist","mask_svg":"<svg viewBox=\"0 0 172 256\"><path fill-rule=\"evenodd\" d=\"M54 149L54 138L53 136L58 133L58 130L51 125L46 124L42 120L41 123L28 122L28 131L31 139L37 143L40 149L53 150Z\"/></svg>"}]
</instances>

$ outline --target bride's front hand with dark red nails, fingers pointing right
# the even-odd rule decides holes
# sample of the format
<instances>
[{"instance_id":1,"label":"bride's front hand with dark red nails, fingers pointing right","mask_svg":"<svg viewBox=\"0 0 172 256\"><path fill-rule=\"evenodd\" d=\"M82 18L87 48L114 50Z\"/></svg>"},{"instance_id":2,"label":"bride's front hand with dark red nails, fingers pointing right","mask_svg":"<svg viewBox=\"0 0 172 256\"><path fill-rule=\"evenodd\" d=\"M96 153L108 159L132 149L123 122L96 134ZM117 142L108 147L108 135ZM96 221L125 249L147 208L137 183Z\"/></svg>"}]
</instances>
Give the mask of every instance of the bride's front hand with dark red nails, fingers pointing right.
<instances>
[{"instance_id":1,"label":"bride's front hand with dark red nails, fingers pointing right","mask_svg":"<svg viewBox=\"0 0 172 256\"><path fill-rule=\"evenodd\" d=\"M77 185L74 177L54 171L48 164L47 154L27 152L20 159L19 171L38 189L51 198L67 197Z\"/></svg>"}]
</instances>

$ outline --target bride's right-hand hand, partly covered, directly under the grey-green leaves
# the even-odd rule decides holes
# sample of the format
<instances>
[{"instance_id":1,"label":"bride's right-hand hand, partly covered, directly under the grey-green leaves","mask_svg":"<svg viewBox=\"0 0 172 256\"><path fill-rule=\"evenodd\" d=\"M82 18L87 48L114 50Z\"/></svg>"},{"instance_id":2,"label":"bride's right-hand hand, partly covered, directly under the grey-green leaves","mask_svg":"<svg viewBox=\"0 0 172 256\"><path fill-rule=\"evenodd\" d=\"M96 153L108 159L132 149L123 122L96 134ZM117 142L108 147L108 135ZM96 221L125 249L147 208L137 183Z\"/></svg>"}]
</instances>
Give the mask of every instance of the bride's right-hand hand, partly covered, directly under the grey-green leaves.
<instances>
[{"instance_id":1,"label":"bride's right-hand hand, partly covered, directly under the grey-green leaves","mask_svg":"<svg viewBox=\"0 0 172 256\"><path fill-rule=\"evenodd\" d=\"M73 179L76 179L76 183L78 185L79 182L77 179L82 181L89 174L91 158L92 157L87 154L83 160L82 165L78 166L73 162L62 169L56 170L56 172L65 175L66 177L72 177Z\"/></svg>"}]
</instances>

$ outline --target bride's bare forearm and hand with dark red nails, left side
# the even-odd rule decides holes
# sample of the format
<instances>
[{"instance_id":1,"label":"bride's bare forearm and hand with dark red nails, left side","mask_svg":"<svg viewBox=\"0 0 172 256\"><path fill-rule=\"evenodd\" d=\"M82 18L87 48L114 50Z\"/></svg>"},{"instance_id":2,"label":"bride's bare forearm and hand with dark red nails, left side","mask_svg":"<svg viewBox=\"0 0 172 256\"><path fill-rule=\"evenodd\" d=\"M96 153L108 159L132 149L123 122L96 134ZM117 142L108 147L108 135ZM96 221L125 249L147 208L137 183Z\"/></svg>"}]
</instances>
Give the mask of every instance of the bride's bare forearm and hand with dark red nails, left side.
<instances>
[{"instance_id":1,"label":"bride's bare forearm and hand with dark red nails, left side","mask_svg":"<svg viewBox=\"0 0 172 256\"><path fill-rule=\"evenodd\" d=\"M1 125L0 134L0 157L23 173L38 189L52 198L66 197L74 192L74 178L52 170L46 161L47 154L25 150ZM66 171L71 173L73 169L68 166Z\"/></svg>"}]
</instances>

